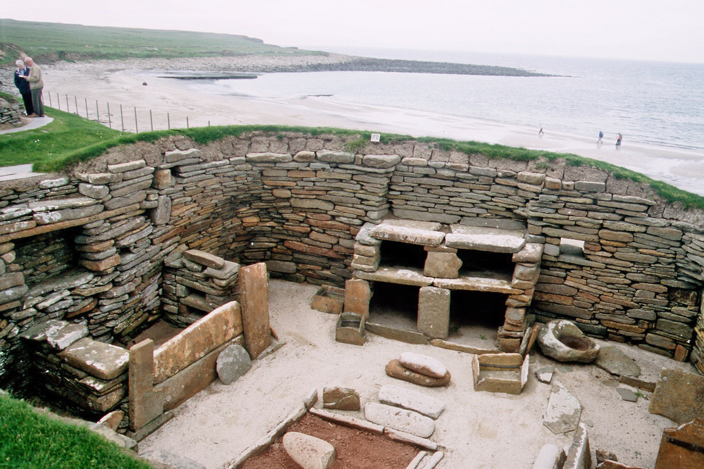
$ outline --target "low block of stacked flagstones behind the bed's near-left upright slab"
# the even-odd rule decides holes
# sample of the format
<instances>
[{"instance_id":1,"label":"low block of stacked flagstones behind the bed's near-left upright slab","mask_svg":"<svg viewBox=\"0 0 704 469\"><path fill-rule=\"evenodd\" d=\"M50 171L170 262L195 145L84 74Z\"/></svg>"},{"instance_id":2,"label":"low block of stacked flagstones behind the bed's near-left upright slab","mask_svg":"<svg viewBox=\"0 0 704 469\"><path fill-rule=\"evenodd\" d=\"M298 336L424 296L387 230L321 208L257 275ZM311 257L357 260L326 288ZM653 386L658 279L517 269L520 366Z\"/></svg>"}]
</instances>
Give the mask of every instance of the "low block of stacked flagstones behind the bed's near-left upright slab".
<instances>
[{"instance_id":1,"label":"low block of stacked flagstones behind the bed's near-left upright slab","mask_svg":"<svg viewBox=\"0 0 704 469\"><path fill-rule=\"evenodd\" d=\"M87 338L82 324L49 319L27 329L35 389L48 391L89 413L105 413L127 392L128 352Z\"/></svg>"}]
</instances>

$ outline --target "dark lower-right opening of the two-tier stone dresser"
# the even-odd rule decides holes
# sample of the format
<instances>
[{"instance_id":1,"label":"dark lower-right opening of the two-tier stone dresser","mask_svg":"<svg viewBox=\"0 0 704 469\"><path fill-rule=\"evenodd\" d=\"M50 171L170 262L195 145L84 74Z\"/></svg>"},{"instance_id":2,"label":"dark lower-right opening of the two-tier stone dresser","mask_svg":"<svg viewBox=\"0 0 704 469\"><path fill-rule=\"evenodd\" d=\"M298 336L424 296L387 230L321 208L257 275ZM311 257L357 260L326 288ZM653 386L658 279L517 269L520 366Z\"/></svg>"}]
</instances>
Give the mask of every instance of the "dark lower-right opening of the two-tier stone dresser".
<instances>
[{"instance_id":1,"label":"dark lower-right opening of the two-tier stone dresser","mask_svg":"<svg viewBox=\"0 0 704 469\"><path fill-rule=\"evenodd\" d=\"M448 340L493 348L504 323L506 298L503 293L451 290Z\"/></svg>"}]
</instances>

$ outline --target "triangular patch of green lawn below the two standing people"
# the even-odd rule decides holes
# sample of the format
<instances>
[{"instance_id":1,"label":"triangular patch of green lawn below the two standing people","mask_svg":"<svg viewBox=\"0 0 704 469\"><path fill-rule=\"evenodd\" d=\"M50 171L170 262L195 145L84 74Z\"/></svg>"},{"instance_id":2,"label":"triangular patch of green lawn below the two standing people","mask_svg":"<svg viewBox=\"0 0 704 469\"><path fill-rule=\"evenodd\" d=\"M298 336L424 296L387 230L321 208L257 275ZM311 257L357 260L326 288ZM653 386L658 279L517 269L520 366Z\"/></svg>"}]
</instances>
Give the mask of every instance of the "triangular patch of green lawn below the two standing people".
<instances>
[{"instance_id":1,"label":"triangular patch of green lawn below the two standing people","mask_svg":"<svg viewBox=\"0 0 704 469\"><path fill-rule=\"evenodd\" d=\"M52 160L77 148L113 140L123 134L53 108L45 108L45 113L54 117L54 121L44 127L0 135L0 166Z\"/></svg>"}]
</instances>

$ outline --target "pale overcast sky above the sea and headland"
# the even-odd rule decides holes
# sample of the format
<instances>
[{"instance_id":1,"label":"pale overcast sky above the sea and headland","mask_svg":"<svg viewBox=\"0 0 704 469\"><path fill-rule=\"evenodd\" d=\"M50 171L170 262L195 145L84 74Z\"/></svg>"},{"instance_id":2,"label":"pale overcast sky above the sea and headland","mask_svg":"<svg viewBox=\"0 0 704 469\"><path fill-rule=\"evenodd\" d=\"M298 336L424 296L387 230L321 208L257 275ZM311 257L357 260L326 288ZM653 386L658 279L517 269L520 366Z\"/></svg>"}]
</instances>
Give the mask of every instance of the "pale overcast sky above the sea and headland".
<instances>
[{"instance_id":1,"label":"pale overcast sky above the sea and headland","mask_svg":"<svg viewBox=\"0 0 704 469\"><path fill-rule=\"evenodd\" d=\"M704 63L702 0L32 0L14 20L382 47Z\"/></svg>"}]
</instances>

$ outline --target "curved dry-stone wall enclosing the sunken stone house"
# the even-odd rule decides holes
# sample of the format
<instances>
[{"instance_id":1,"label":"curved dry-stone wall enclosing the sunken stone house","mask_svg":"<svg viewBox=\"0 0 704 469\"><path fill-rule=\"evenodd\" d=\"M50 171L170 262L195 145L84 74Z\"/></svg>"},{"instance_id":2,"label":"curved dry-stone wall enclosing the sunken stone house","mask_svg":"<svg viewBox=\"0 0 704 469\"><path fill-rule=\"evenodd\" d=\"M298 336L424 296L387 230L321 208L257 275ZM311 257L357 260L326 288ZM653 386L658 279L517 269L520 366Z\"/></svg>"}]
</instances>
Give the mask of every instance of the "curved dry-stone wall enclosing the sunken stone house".
<instances>
[{"instance_id":1,"label":"curved dry-stone wall enclosing the sunken stone house","mask_svg":"<svg viewBox=\"0 0 704 469\"><path fill-rule=\"evenodd\" d=\"M701 210L559 159L490 160L419 141L346 150L356 142L258 131L196 148L170 137L113 149L68 176L5 182L0 387L21 394L32 385L34 359L20 336L49 319L82 324L108 343L161 318L194 321L171 255L197 249L341 287L364 276L354 262L362 226L391 215L524 224L526 243L542 247L540 274L534 288L511 295L509 309L541 322L571 319L593 337L689 359L704 372ZM567 250L570 240L584 247Z\"/></svg>"}]
</instances>

